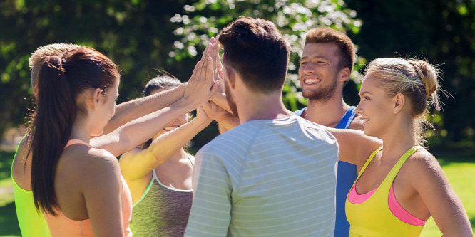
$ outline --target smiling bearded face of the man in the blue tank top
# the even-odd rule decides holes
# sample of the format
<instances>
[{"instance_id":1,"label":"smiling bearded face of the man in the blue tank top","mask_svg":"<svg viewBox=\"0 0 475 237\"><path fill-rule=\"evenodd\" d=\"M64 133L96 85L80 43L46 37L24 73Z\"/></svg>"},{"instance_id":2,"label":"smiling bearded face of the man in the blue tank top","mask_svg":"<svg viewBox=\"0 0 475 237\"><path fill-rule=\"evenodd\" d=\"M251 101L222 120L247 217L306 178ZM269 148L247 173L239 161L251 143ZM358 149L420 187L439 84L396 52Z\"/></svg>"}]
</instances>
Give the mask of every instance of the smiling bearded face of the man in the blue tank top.
<instances>
[{"instance_id":1,"label":"smiling bearded face of the man in the blue tank top","mask_svg":"<svg viewBox=\"0 0 475 237\"><path fill-rule=\"evenodd\" d=\"M316 101L332 98L338 84L339 55L334 43L307 43L299 68L303 97Z\"/></svg>"}]
</instances>

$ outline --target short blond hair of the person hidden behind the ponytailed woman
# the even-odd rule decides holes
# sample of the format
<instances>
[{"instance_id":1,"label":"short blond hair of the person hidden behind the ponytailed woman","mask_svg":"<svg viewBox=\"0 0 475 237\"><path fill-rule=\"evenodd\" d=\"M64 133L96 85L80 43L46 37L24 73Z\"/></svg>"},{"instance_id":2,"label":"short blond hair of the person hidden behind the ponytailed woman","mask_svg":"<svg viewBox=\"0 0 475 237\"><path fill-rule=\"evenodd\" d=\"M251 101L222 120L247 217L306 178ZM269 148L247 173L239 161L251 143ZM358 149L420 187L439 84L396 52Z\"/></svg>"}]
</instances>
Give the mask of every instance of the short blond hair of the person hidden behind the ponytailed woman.
<instances>
[{"instance_id":1,"label":"short blond hair of the person hidden behind the ponytailed woman","mask_svg":"<svg viewBox=\"0 0 475 237\"><path fill-rule=\"evenodd\" d=\"M49 56L60 56L61 53L69 51L71 49L83 48L84 46L78 46L71 43L52 43L47 46L41 46L29 58L29 67L31 69L31 87L33 88L38 83L38 73L43 65L45 58Z\"/></svg>"}]
</instances>

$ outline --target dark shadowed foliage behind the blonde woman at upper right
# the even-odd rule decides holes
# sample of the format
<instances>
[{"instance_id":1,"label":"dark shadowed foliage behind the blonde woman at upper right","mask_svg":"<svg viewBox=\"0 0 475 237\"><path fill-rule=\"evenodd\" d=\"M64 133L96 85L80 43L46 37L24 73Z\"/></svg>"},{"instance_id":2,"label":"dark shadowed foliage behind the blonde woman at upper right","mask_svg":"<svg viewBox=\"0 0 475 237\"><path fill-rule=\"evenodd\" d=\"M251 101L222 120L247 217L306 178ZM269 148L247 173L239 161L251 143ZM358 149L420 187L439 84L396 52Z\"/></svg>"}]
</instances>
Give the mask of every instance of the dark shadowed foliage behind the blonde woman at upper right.
<instances>
[{"instance_id":1,"label":"dark shadowed foliage behind the blonde woman at upper right","mask_svg":"<svg viewBox=\"0 0 475 237\"><path fill-rule=\"evenodd\" d=\"M438 132L429 141L475 142L475 1L394 0L346 3L358 12L363 25L349 33L359 53L380 57L424 57L444 72L441 88L443 111ZM440 120L439 120L440 119ZM432 144L432 143L431 143Z\"/></svg>"}]
</instances>

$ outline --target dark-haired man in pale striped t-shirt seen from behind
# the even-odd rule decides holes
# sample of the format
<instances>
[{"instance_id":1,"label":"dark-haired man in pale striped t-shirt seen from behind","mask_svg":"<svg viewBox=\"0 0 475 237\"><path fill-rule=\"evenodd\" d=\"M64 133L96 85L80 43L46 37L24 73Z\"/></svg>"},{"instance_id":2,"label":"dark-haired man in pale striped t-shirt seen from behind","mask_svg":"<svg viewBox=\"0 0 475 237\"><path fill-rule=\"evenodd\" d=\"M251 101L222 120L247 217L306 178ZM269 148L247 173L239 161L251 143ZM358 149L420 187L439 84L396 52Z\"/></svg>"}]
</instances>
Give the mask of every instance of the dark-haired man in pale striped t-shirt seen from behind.
<instances>
[{"instance_id":1,"label":"dark-haired man in pale striped t-shirt seen from behind","mask_svg":"<svg viewBox=\"0 0 475 237\"><path fill-rule=\"evenodd\" d=\"M270 21L240 18L219 41L241 125L198 152L185 236L333 236L338 146L282 103L285 39Z\"/></svg>"}]
</instances>

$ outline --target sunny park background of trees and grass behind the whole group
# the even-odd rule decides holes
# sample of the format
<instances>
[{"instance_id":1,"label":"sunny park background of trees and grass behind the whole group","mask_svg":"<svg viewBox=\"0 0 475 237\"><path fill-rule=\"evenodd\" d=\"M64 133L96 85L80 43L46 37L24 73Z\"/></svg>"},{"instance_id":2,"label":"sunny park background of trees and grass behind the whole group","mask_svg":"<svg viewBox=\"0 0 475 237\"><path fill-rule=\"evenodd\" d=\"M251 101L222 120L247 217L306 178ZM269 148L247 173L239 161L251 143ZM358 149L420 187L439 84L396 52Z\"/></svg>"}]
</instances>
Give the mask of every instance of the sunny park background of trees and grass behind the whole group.
<instances>
[{"instance_id":1,"label":"sunny park background of trees and grass behind the whole group","mask_svg":"<svg viewBox=\"0 0 475 237\"><path fill-rule=\"evenodd\" d=\"M122 70L118 102L143 96L166 70L186 81L205 43L239 16L273 21L292 46L283 100L304 107L296 75L305 31L329 26L357 46L344 99L357 105L364 65L379 57L427 58L444 72L444 110L429 116L428 147L475 226L474 0L0 0L0 236L20 236L10 167L24 135L32 90L28 58L49 43L76 43L105 53ZM212 124L190 152L218 135ZM440 236L429 221L422 236Z\"/></svg>"}]
</instances>

